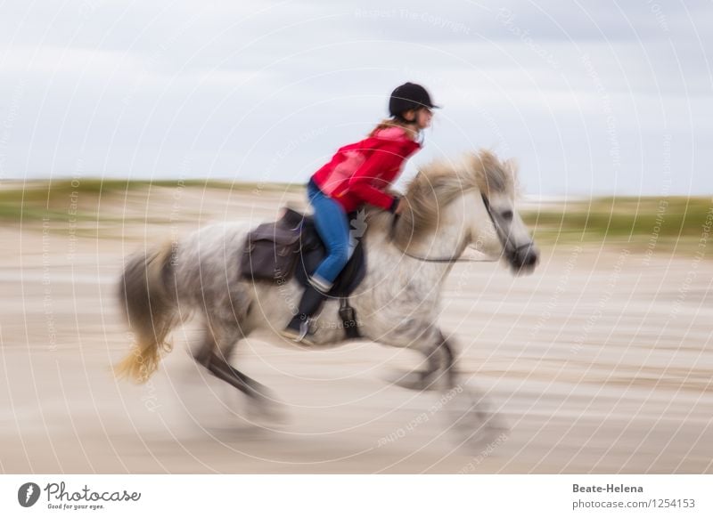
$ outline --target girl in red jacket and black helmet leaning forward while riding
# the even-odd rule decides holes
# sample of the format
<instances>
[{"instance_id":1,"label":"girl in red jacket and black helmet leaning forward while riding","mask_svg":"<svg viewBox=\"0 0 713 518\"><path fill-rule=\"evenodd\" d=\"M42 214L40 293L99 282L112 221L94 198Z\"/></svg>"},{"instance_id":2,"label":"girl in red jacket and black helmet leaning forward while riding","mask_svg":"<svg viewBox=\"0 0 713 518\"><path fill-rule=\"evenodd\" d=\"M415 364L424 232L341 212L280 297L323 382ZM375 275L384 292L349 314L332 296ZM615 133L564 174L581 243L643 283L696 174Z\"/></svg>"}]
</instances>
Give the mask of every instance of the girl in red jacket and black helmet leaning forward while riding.
<instances>
[{"instance_id":1,"label":"girl in red jacket and black helmet leaning forward while riding","mask_svg":"<svg viewBox=\"0 0 713 518\"><path fill-rule=\"evenodd\" d=\"M332 283L349 259L348 213L368 203L400 214L403 202L385 190L397 179L406 162L422 147L421 132L429 127L431 109L439 108L421 85L397 86L389 98L391 118L383 120L361 142L337 151L332 160L312 175L307 196L327 255L309 278L297 313L282 335L311 345L309 319L319 310Z\"/></svg>"}]
</instances>

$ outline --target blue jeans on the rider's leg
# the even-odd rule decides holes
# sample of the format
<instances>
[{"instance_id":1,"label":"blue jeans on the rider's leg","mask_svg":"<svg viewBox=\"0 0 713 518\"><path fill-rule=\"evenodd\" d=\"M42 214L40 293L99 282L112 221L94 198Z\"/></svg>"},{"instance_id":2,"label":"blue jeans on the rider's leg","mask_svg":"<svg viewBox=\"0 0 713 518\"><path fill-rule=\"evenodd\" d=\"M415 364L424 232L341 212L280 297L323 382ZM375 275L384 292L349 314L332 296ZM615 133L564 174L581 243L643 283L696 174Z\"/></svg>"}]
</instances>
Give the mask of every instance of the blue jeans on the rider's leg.
<instances>
[{"instance_id":1,"label":"blue jeans on the rider's leg","mask_svg":"<svg viewBox=\"0 0 713 518\"><path fill-rule=\"evenodd\" d=\"M307 184L309 203L315 208L315 224L319 237L327 248L327 256L317 266L312 279L323 291L347 265L349 254L349 218L339 202L319 190L316 183ZM319 286L324 284L324 286Z\"/></svg>"}]
</instances>

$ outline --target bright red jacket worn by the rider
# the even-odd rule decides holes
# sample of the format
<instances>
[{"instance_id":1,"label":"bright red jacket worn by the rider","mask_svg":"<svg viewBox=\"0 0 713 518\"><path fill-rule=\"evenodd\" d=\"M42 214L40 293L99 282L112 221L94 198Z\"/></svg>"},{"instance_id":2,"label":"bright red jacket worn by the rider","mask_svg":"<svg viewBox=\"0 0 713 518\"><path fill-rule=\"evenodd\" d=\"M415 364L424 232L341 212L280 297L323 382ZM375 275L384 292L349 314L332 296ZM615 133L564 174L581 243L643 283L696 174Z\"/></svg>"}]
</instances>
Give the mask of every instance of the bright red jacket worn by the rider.
<instances>
[{"instance_id":1,"label":"bright red jacket worn by the rider","mask_svg":"<svg viewBox=\"0 0 713 518\"><path fill-rule=\"evenodd\" d=\"M401 172L406 159L420 149L421 144L409 139L403 128L384 128L373 137L340 148L312 180L346 212L363 203L389 209L394 198L384 190Z\"/></svg>"}]
</instances>

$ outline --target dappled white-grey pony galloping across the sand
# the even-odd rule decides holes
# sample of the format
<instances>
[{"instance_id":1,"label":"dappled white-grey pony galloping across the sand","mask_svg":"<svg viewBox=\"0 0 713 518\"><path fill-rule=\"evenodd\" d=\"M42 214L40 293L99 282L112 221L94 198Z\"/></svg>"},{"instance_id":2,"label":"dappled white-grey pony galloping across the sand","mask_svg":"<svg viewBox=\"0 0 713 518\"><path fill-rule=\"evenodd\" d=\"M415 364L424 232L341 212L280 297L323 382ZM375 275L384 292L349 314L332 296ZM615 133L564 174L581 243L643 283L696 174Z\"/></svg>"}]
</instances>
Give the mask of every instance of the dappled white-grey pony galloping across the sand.
<instances>
[{"instance_id":1,"label":"dappled white-grey pony galloping across the sand","mask_svg":"<svg viewBox=\"0 0 713 518\"><path fill-rule=\"evenodd\" d=\"M367 271L350 296L365 339L422 352L426 367L397 380L422 390L438 382L456 384L455 352L438 328L443 283L466 247L499 255L514 273L532 271L538 252L515 211L516 171L487 150L458 162L425 166L409 183L407 209L396 221L389 213L365 213ZM278 335L296 311L301 288L295 279L275 286L242 279L240 255L250 229L211 225L131 258L119 297L135 334L133 352L119 375L146 381L156 370L172 328L198 313L204 337L193 353L209 371L265 407L265 386L229 363L235 345L257 329ZM312 322L316 344L345 340L339 301L328 300ZM299 346L298 344L293 344ZM441 383L442 382L442 383Z\"/></svg>"}]
</instances>

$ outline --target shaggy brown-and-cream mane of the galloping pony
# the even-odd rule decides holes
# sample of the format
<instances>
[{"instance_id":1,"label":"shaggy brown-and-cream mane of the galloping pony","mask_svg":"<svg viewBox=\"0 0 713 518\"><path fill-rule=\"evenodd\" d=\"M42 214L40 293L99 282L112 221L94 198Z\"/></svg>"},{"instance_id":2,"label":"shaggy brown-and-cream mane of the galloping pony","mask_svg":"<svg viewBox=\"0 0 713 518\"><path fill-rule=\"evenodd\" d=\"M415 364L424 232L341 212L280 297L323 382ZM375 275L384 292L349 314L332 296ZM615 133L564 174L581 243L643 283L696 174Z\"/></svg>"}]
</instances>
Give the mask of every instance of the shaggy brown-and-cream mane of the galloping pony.
<instances>
[{"instance_id":1,"label":"shaggy brown-and-cream mane of the galloping pony","mask_svg":"<svg viewBox=\"0 0 713 518\"><path fill-rule=\"evenodd\" d=\"M423 166L406 187L406 210L393 229L400 247L419 239L438 223L438 214L465 190L514 195L517 166L510 159L501 162L490 150L466 155L460 161L438 160ZM390 214L373 211L372 221L390 224Z\"/></svg>"}]
</instances>

